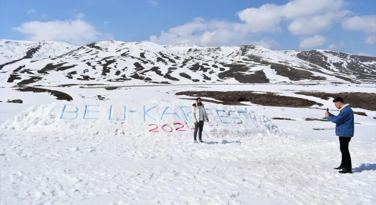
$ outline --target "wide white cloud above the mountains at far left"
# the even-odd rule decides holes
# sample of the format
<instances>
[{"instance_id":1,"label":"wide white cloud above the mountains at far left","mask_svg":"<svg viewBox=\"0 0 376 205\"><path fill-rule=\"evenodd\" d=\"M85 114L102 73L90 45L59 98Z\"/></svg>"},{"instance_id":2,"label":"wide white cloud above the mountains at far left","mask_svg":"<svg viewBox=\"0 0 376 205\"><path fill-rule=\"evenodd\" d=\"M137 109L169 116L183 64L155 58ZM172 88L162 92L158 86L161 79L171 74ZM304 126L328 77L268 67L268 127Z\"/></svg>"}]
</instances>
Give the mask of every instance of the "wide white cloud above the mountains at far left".
<instances>
[{"instance_id":1,"label":"wide white cloud above the mountains at far left","mask_svg":"<svg viewBox=\"0 0 376 205\"><path fill-rule=\"evenodd\" d=\"M97 40L113 39L103 34L86 21L77 19L69 21L29 21L13 28L30 41L66 41L72 44L84 44Z\"/></svg>"}]
</instances>

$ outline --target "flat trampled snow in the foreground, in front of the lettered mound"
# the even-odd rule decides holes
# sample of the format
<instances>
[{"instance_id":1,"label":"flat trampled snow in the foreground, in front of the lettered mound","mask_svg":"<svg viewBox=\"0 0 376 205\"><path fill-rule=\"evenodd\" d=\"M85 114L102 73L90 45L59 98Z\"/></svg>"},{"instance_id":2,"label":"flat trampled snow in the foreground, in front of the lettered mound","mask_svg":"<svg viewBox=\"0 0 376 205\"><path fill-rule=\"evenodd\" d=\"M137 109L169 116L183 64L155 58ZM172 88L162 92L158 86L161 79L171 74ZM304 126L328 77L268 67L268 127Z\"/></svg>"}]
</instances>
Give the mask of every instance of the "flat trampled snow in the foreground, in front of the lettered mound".
<instances>
[{"instance_id":1,"label":"flat trampled snow in the foreground, in front of the lettered mound","mask_svg":"<svg viewBox=\"0 0 376 205\"><path fill-rule=\"evenodd\" d=\"M340 162L337 141L265 135L228 136L222 144L214 138L193 144L191 136L170 134L6 130L1 203L375 205L375 148L352 143L354 174L341 175L332 168Z\"/></svg>"}]
</instances>

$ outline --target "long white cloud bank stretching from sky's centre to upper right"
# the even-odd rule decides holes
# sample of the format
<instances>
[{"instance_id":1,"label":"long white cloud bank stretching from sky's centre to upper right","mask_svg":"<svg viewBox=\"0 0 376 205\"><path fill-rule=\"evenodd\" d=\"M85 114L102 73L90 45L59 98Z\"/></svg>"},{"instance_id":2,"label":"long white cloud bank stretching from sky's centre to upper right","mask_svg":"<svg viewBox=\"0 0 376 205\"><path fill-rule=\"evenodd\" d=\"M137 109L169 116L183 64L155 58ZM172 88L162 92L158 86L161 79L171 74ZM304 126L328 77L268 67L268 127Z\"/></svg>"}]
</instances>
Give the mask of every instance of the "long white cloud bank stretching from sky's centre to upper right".
<instances>
[{"instance_id":1,"label":"long white cloud bank stretching from sky's centre to upper right","mask_svg":"<svg viewBox=\"0 0 376 205\"><path fill-rule=\"evenodd\" d=\"M294 35L313 35L329 30L334 22L350 13L343 10L343 6L344 0L290 0L284 5L268 3L237 12L240 22L195 18L183 25L162 31L159 36L150 36L149 40L160 44L262 44L264 41L255 40L255 36L260 33L280 32L282 21L289 23L288 28ZM269 45L273 47L277 44Z\"/></svg>"}]
</instances>

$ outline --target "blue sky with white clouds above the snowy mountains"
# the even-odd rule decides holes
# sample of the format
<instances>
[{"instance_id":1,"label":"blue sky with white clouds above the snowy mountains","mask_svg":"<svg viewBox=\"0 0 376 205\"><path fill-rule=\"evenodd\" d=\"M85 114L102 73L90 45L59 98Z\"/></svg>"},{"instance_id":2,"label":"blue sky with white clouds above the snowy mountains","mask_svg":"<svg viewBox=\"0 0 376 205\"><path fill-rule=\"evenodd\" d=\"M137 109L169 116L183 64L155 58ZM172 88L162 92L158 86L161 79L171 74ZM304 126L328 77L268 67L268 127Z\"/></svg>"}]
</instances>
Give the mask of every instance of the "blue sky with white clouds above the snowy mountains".
<instances>
[{"instance_id":1,"label":"blue sky with white clouds above the snowy mountains","mask_svg":"<svg viewBox=\"0 0 376 205\"><path fill-rule=\"evenodd\" d=\"M0 0L0 39L257 44L376 56L376 1Z\"/></svg>"}]
</instances>

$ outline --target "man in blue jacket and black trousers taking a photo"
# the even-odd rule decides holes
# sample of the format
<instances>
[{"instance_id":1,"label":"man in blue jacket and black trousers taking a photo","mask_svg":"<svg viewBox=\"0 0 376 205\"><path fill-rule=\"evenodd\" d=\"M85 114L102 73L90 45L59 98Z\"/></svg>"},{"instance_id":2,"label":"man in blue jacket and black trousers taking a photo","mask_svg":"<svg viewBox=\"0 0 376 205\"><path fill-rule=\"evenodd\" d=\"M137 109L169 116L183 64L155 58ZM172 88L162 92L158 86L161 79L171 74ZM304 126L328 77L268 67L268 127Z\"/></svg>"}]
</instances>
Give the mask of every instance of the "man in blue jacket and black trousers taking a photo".
<instances>
[{"instance_id":1,"label":"man in blue jacket and black trousers taking a photo","mask_svg":"<svg viewBox=\"0 0 376 205\"><path fill-rule=\"evenodd\" d=\"M352 173L351 157L349 152L349 143L354 136L354 112L349 104L345 104L342 98L333 100L334 105L339 109L337 116L325 113L327 120L335 123L335 135L339 137L339 147L342 153L341 165L334 169L341 169L338 171L341 174Z\"/></svg>"}]
</instances>

